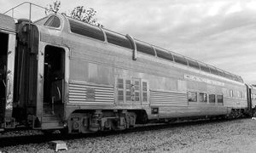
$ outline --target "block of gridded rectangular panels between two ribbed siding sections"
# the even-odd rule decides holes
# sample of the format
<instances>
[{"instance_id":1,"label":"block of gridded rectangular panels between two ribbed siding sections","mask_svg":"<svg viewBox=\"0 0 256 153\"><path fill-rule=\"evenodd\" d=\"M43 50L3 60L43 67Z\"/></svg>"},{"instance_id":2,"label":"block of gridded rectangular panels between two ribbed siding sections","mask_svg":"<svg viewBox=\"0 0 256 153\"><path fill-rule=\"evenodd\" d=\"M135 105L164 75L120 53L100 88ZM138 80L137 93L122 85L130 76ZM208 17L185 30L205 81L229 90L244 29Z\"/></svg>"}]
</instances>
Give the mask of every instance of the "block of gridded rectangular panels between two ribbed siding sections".
<instances>
[{"instance_id":1,"label":"block of gridded rectangular panels between two ribbed siding sections","mask_svg":"<svg viewBox=\"0 0 256 153\"><path fill-rule=\"evenodd\" d=\"M117 79L117 100L119 102L147 102L148 82L141 82L139 79ZM142 97L141 97L142 96Z\"/></svg>"}]
</instances>

